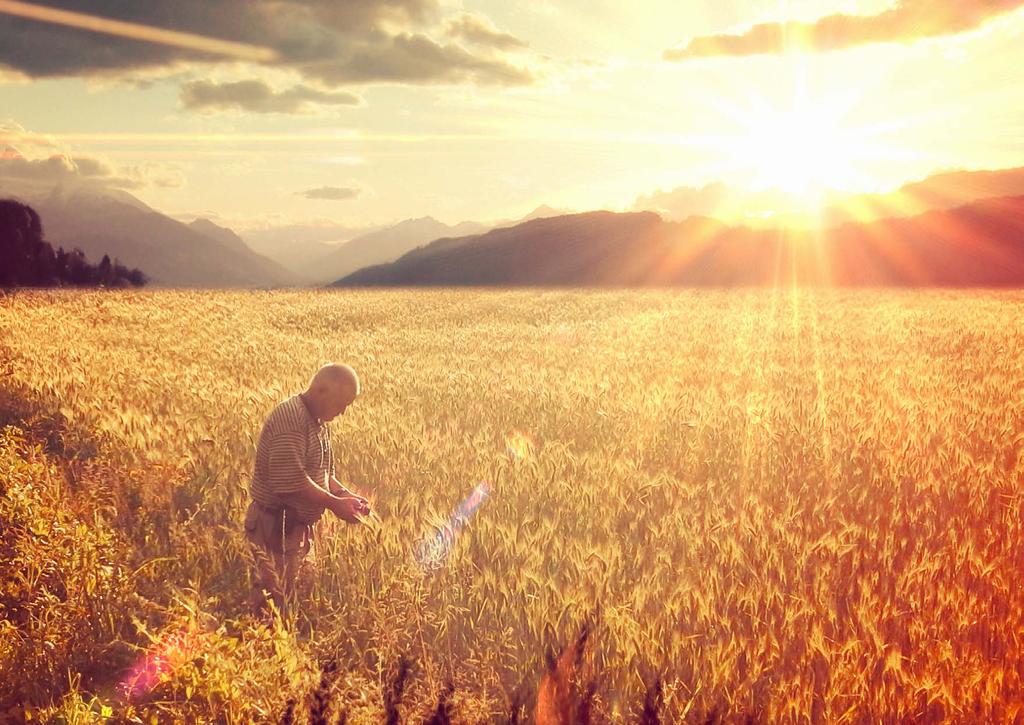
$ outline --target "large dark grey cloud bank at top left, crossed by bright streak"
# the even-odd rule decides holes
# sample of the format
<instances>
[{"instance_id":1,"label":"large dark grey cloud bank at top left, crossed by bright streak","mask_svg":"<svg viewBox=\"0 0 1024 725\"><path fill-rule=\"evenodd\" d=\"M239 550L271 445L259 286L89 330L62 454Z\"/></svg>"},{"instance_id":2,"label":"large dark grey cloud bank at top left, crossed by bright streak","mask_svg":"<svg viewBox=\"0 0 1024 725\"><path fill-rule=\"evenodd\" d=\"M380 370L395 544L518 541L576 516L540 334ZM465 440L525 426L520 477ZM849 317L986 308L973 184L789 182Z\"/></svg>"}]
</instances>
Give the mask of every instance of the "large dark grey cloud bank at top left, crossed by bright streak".
<instances>
[{"instance_id":1,"label":"large dark grey cloud bank at top left, crossed by bright streak","mask_svg":"<svg viewBox=\"0 0 1024 725\"><path fill-rule=\"evenodd\" d=\"M493 53L425 33L437 0L48 0L48 6L273 50L267 65L332 87L402 83L526 84L532 74ZM497 35L503 35L495 31ZM30 77L124 76L222 56L0 14L0 67Z\"/></svg>"}]
</instances>

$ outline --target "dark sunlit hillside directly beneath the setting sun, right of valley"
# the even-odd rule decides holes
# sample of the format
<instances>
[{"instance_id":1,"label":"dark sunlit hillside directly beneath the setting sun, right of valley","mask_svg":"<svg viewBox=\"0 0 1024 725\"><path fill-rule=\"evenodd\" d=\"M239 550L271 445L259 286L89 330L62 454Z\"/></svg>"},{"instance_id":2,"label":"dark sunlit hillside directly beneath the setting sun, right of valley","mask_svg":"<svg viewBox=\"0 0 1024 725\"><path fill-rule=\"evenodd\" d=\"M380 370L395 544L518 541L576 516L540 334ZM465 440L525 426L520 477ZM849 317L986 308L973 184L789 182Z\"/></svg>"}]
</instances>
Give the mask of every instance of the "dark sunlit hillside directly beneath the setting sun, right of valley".
<instances>
[{"instance_id":1,"label":"dark sunlit hillside directly beneath the setting sun, right of valley","mask_svg":"<svg viewBox=\"0 0 1024 725\"><path fill-rule=\"evenodd\" d=\"M1024 197L814 233L651 212L573 214L438 240L337 286L1024 285Z\"/></svg>"}]
</instances>

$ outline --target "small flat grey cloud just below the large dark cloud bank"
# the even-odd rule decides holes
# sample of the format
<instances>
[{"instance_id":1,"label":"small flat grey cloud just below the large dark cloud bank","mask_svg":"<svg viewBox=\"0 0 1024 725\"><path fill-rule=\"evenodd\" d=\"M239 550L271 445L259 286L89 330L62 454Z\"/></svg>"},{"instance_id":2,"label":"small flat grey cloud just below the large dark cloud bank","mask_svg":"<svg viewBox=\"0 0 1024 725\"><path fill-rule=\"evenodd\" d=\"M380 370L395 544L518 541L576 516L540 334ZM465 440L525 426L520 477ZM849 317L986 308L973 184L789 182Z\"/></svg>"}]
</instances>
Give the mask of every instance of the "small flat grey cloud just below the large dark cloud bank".
<instances>
[{"instance_id":1,"label":"small flat grey cloud just below the large dark cloud bank","mask_svg":"<svg viewBox=\"0 0 1024 725\"><path fill-rule=\"evenodd\" d=\"M257 114L305 114L316 105L358 105L348 91L322 91L306 85L275 91L258 81L191 81L181 86L181 105L189 111L250 111Z\"/></svg>"}]
</instances>

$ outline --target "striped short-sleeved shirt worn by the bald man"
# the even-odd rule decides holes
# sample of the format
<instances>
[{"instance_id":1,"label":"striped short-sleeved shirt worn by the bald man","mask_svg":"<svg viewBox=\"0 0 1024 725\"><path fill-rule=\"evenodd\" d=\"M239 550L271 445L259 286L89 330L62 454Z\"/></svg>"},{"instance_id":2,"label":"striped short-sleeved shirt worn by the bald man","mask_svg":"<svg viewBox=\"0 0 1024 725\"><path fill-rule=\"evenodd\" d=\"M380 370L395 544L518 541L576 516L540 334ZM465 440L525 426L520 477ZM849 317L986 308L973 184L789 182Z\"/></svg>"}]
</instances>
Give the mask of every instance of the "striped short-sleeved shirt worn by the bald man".
<instances>
[{"instance_id":1,"label":"striped short-sleeved shirt worn by the bald man","mask_svg":"<svg viewBox=\"0 0 1024 725\"><path fill-rule=\"evenodd\" d=\"M314 523L324 507L295 495L308 485L307 475L327 488L327 477L334 475L334 454L327 424L293 395L278 403L263 424L249 491L256 503L273 509L288 506L303 523Z\"/></svg>"}]
</instances>

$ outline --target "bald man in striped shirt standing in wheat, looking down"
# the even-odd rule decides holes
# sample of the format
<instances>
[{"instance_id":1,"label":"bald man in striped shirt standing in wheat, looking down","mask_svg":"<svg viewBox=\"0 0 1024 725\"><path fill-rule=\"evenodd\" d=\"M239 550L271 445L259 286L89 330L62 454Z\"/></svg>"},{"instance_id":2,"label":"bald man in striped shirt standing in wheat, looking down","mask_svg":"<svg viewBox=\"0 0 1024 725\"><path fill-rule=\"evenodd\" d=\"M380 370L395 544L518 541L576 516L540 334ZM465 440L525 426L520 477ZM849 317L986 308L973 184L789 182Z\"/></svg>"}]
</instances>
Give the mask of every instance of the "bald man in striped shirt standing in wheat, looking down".
<instances>
[{"instance_id":1,"label":"bald man in striped shirt standing in wheat, looking down","mask_svg":"<svg viewBox=\"0 0 1024 725\"><path fill-rule=\"evenodd\" d=\"M349 523L370 513L369 502L334 475L327 423L359 394L347 365L326 365L305 391L279 403L260 431L246 512L246 539L254 557L254 604L266 597L286 613L299 568L312 544L313 524L325 510Z\"/></svg>"}]
</instances>

